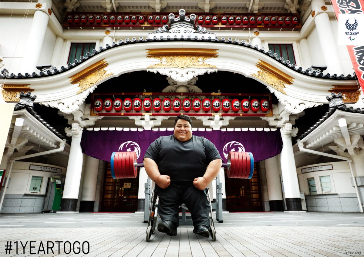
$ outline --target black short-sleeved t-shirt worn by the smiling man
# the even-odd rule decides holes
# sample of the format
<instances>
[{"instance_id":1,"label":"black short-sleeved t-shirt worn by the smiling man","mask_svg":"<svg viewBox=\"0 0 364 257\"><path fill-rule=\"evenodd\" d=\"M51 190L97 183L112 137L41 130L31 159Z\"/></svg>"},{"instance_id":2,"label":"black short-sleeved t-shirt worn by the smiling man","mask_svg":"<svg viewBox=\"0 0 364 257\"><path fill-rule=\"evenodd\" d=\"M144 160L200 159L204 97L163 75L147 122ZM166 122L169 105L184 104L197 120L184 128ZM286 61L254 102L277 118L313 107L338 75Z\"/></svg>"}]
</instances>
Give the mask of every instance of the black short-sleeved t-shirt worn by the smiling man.
<instances>
[{"instance_id":1,"label":"black short-sleeved t-shirt worn by the smiling man","mask_svg":"<svg viewBox=\"0 0 364 257\"><path fill-rule=\"evenodd\" d=\"M157 138L145 153L144 158L154 160L161 175L168 175L171 184L188 186L202 177L209 163L221 159L215 145L204 137L192 136L186 142L171 136Z\"/></svg>"}]
</instances>

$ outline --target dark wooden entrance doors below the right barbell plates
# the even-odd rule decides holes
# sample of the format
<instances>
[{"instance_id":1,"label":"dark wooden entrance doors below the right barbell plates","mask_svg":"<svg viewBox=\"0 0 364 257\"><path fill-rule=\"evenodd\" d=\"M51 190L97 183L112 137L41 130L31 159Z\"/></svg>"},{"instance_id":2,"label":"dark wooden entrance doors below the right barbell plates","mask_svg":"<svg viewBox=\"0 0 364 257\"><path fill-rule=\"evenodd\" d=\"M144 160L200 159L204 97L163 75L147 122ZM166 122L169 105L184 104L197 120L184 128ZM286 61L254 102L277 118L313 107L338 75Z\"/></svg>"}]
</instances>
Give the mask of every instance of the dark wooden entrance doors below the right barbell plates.
<instances>
[{"instance_id":1,"label":"dark wooden entrance doors below the right barbell plates","mask_svg":"<svg viewBox=\"0 0 364 257\"><path fill-rule=\"evenodd\" d=\"M263 210L259 172L254 163L253 177L228 178L225 169L226 210L228 212L260 212Z\"/></svg>"}]
</instances>

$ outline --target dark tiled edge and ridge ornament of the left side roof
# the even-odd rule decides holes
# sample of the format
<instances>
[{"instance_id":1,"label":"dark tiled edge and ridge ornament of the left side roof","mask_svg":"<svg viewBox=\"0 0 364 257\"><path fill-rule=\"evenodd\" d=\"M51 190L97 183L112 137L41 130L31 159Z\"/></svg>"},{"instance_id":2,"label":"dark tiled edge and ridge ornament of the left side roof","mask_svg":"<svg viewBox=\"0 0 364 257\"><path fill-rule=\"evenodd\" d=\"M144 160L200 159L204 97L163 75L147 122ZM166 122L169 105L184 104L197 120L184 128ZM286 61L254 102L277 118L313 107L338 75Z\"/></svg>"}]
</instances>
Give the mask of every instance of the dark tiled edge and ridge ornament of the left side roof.
<instances>
[{"instance_id":1,"label":"dark tiled edge and ridge ornament of the left side roof","mask_svg":"<svg viewBox=\"0 0 364 257\"><path fill-rule=\"evenodd\" d=\"M58 136L61 139L65 139L65 137L58 132L55 128L53 128L50 124L47 123L44 119L42 119L36 111L34 111L34 100L37 96L31 96L31 93L28 92L24 94L24 92L20 92L20 100L14 107L14 111L19 111L21 109L26 109L33 117L40 121L47 129L49 129L52 133Z\"/></svg>"}]
</instances>

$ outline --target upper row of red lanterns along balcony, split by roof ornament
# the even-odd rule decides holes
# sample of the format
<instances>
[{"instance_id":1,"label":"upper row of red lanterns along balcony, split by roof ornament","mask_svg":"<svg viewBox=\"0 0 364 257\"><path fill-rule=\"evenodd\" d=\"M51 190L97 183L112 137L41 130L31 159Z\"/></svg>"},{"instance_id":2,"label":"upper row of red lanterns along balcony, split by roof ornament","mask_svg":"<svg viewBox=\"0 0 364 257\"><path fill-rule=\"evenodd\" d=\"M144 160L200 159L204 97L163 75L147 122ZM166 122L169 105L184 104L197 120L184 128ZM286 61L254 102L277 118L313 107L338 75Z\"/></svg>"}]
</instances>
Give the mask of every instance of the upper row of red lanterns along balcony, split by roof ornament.
<instances>
[{"instance_id":1,"label":"upper row of red lanterns along balcony, split by roof ornament","mask_svg":"<svg viewBox=\"0 0 364 257\"><path fill-rule=\"evenodd\" d=\"M168 17L167 15L149 15L148 18L147 18L147 21L150 25L153 25L153 24L167 24L168 23ZM254 15L251 15L251 16L247 16L247 15L244 15L244 16L240 16L240 15L237 15L237 16L226 16L226 15L223 15L221 16L220 18L220 21L221 21L221 24L222 25L286 25L286 26L289 26L289 25L298 25L298 17L297 16L254 16ZM217 15L213 15L212 17L209 16L209 15L206 15L206 16L203 16L203 15L199 15L198 18L197 18L197 23L199 25L217 25L219 22L219 18ZM86 25L87 23L90 24L90 25L93 25L93 24L96 24L96 25L101 25L101 24L104 24L104 25L115 25L115 24L118 24L118 25L121 25L123 23L125 24L144 24L145 23L145 16L144 15L68 15L67 16L67 23L68 24L75 24L75 25L78 25L78 24L83 24L83 25Z\"/></svg>"}]
</instances>

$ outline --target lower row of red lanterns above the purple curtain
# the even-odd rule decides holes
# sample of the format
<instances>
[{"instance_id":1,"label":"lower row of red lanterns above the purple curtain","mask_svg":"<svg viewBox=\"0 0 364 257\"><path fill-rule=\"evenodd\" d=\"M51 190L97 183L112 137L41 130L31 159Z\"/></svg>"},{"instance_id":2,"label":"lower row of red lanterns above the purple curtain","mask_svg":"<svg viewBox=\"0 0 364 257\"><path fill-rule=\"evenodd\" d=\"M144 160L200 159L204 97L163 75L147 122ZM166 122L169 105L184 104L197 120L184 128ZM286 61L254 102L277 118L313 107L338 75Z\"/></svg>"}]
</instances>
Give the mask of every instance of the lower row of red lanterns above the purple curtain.
<instances>
[{"instance_id":1,"label":"lower row of red lanterns above the purple curtain","mask_svg":"<svg viewBox=\"0 0 364 257\"><path fill-rule=\"evenodd\" d=\"M251 109L254 113L261 110L262 112L269 111L269 101L267 99L223 99L222 101L218 98L209 99L205 98L201 101L199 98L195 98L191 101L189 98L185 98L182 101L179 98L173 99L173 101L166 97L163 101L160 98L145 98L144 100L140 98L126 98L124 101L120 98L115 98L113 101L111 98L106 98L104 101L101 98L97 98L94 101L94 109L96 112L102 111L104 109L106 112L112 111L114 107L115 112L120 112L123 108L124 111L130 112L132 109L135 112L143 111L150 112L153 108L154 112L159 112L162 110L169 112L173 109L175 112L183 110L183 112L189 112L191 109L194 112L199 112L202 108L204 112L210 112L211 108L213 112L219 112L221 109L223 112L229 112L230 109L233 112L248 112Z\"/></svg>"}]
</instances>

